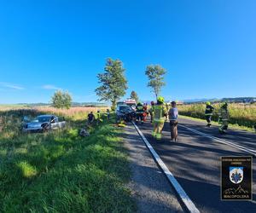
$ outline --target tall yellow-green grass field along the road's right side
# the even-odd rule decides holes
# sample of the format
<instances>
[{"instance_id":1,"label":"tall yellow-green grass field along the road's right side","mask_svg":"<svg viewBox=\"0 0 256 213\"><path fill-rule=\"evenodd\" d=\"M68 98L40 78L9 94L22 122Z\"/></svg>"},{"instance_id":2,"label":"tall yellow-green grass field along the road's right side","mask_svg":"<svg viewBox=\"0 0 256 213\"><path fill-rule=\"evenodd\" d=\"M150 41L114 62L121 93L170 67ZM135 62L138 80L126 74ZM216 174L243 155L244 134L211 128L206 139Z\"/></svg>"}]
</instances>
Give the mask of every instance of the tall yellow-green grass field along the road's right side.
<instances>
[{"instance_id":1,"label":"tall yellow-green grass field along the road's right side","mask_svg":"<svg viewBox=\"0 0 256 213\"><path fill-rule=\"evenodd\" d=\"M218 110L220 104L213 104L215 110L213 112L212 120L218 121ZM179 113L181 115L189 116L192 118L205 119L205 104L190 104L178 106ZM236 124L237 126L244 126L253 128L256 124L256 104L241 105L241 104L229 104L230 112L230 124Z\"/></svg>"}]
</instances>

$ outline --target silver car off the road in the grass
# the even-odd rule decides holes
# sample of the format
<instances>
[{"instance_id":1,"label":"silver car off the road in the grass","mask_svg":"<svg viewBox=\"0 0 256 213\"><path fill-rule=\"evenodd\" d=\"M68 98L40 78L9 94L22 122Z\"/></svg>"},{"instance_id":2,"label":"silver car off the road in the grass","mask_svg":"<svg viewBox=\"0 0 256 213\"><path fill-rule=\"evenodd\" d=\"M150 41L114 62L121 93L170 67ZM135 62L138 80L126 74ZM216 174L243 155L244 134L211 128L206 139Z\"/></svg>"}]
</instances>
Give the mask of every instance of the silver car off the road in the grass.
<instances>
[{"instance_id":1,"label":"silver car off the road in the grass","mask_svg":"<svg viewBox=\"0 0 256 213\"><path fill-rule=\"evenodd\" d=\"M60 121L55 115L39 115L29 123L24 124L23 132L46 132L49 130L62 129L66 121Z\"/></svg>"}]
</instances>

